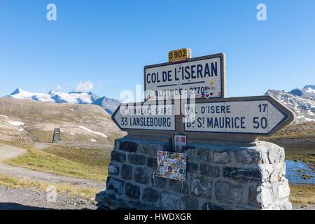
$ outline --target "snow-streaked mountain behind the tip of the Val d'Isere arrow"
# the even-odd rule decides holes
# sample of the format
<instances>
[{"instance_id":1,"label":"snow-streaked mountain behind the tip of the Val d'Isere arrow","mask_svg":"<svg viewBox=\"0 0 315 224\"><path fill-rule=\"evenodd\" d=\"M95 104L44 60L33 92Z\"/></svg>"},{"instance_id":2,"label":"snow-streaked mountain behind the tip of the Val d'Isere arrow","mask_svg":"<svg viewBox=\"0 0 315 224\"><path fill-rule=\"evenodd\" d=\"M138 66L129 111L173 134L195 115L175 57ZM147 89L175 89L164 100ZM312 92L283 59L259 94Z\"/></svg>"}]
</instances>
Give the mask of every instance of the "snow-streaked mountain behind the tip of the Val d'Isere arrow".
<instances>
[{"instance_id":1,"label":"snow-streaked mountain behind the tip of the Val d'Isere arrow","mask_svg":"<svg viewBox=\"0 0 315 224\"><path fill-rule=\"evenodd\" d=\"M301 96L299 96L300 93ZM314 85L307 85L302 90L295 89L290 92L268 90L265 94L269 94L278 99L279 102L283 103L295 113L293 123L315 123Z\"/></svg>"}]
</instances>

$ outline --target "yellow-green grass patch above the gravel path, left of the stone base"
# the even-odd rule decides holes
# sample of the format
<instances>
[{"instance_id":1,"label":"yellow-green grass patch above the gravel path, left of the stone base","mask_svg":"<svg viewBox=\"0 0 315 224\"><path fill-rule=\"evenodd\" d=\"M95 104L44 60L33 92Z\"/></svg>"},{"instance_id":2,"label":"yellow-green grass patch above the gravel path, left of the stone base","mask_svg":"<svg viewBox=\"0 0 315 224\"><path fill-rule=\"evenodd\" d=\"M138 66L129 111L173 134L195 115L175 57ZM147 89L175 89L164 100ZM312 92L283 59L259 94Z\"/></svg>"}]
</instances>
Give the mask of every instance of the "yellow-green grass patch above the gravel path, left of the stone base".
<instances>
[{"instance_id":1,"label":"yellow-green grass patch above the gravel path, left of the stone base","mask_svg":"<svg viewBox=\"0 0 315 224\"><path fill-rule=\"evenodd\" d=\"M70 149L65 150L64 152L62 152L62 150L47 152L30 149L29 153L26 155L7 160L5 163L15 167L25 167L28 169L48 172L51 174L59 174L62 176L105 181L107 176L106 165L108 165L108 160L107 162L105 160L103 163L97 161L93 164L92 157L89 158L89 155L93 154L92 149L85 151L86 155L83 157L90 159L87 161L80 158L80 155L78 155L80 151L71 151Z\"/></svg>"}]
</instances>

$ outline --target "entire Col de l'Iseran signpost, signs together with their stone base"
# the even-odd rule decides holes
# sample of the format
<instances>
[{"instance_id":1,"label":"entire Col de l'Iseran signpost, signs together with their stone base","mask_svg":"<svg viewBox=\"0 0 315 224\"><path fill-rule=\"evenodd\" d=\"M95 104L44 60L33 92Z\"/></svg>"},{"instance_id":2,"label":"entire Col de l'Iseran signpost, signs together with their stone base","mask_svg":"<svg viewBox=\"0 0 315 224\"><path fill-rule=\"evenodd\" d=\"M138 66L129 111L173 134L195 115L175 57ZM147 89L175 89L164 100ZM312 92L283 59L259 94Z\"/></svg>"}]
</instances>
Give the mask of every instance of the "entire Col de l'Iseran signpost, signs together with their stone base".
<instances>
[{"instance_id":1,"label":"entire Col de l'Iseran signpost, signs together with their stone base","mask_svg":"<svg viewBox=\"0 0 315 224\"><path fill-rule=\"evenodd\" d=\"M170 52L177 55L176 61L171 55L169 63L145 66L145 90L151 90L146 93L146 102L120 104L112 115L120 130L127 131L127 136L115 144L113 153L120 158L120 150L128 151L127 155L122 154L130 163L124 169L134 174L127 175L122 169L116 179L119 170L111 172L107 189L118 191L120 196L112 199L104 193L104 197L99 197L104 207L137 208L139 197L130 200L136 188L124 188L123 183L135 184L138 192L145 191L149 178L152 176L154 182L155 176L160 176L174 180L172 186L162 186L163 192L181 190L184 196L180 200L189 196L189 201L183 201L186 209L208 208L209 192L218 200L214 206L222 207L221 202L224 202L224 208L289 208L288 182L277 178L285 171L283 148L256 140L260 136L269 137L288 125L294 119L293 112L268 95L225 98L225 55L183 58L186 61L179 62L177 59L183 57L179 52L182 51ZM156 159L153 158L155 153ZM273 153L272 159L269 153ZM118 168L125 164L125 159L112 160L116 160L114 165ZM244 167L245 164L251 165ZM199 180L204 176L212 176L214 181L201 183ZM187 180L195 186L190 190L193 194L183 191L186 183L178 182ZM251 182L250 187L248 182ZM281 197L272 194L270 183L281 186L284 192ZM216 189L209 189L213 184ZM257 193L256 186L260 187ZM268 200L238 205L258 198L256 196L264 189L264 198ZM151 191L147 194L150 199L156 195ZM189 203L192 200L194 203ZM140 204L143 208L161 207L159 200ZM162 207L168 208L167 205ZM184 207L175 206L175 209Z\"/></svg>"}]
</instances>

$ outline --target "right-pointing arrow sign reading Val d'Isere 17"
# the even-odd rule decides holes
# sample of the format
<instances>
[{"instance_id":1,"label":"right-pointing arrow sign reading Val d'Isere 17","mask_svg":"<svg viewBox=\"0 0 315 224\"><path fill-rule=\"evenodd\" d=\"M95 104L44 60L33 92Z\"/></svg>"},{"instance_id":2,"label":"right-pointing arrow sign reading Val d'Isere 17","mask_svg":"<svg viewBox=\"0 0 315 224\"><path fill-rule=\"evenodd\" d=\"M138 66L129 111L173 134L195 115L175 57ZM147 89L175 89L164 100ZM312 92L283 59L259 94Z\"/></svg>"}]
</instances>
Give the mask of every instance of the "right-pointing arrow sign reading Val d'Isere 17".
<instances>
[{"instance_id":1,"label":"right-pointing arrow sign reading Val d'Isere 17","mask_svg":"<svg viewBox=\"0 0 315 224\"><path fill-rule=\"evenodd\" d=\"M185 104L185 132L268 135L290 123L294 114L270 96L230 98Z\"/></svg>"}]
</instances>

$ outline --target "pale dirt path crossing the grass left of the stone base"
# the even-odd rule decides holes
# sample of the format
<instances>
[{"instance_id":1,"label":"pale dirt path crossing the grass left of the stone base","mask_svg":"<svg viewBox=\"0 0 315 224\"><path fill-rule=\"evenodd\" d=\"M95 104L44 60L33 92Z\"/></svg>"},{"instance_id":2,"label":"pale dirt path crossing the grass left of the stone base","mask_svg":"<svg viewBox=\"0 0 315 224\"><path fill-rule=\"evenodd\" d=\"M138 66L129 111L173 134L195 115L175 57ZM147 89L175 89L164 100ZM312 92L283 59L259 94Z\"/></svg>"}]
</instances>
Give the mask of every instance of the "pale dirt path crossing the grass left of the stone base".
<instances>
[{"instance_id":1,"label":"pale dirt path crossing the grass left of the stone base","mask_svg":"<svg viewBox=\"0 0 315 224\"><path fill-rule=\"evenodd\" d=\"M8 176L15 176L19 179L29 179L31 181L46 181L49 183L66 183L73 186L82 187L82 188L94 188L97 190L104 190L106 183L99 181L92 181L88 179L76 179L69 176L59 176L56 174L49 174L45 172L38 172L31 169L26 169L22 167L13 167L1 163L3 160L8 160L10 158L15 158L19 155L27 153L27 151L22 148L13 147L13 146L0 146L0 174L5 174Z\"/></svg>"}]
</instances>

